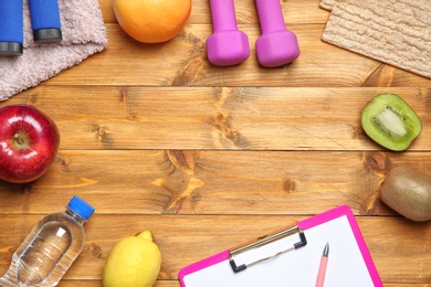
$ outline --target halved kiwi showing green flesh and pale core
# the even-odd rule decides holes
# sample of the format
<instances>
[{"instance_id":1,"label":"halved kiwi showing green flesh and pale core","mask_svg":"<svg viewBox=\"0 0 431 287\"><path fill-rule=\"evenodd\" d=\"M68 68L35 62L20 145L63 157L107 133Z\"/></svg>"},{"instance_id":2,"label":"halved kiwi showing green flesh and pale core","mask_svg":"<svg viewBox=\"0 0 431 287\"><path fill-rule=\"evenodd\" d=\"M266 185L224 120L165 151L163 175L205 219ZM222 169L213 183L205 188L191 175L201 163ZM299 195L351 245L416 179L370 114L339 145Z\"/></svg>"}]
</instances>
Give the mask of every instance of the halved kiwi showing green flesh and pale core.
<instances>
[{"instance_id":1,"label":"halved kiwi showing green flesh and pale core","mask_svg":"<svg viewBox=\"0 0 431 287\"><path fill-rule=\"evenodd\" d=\"M364 107L360 121L372 140L395 151L406 150L422 131L418 115L395 94L377 95Z\"/></svg>"}]
</instances>

